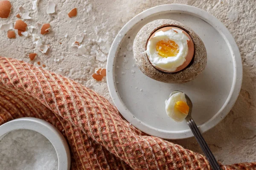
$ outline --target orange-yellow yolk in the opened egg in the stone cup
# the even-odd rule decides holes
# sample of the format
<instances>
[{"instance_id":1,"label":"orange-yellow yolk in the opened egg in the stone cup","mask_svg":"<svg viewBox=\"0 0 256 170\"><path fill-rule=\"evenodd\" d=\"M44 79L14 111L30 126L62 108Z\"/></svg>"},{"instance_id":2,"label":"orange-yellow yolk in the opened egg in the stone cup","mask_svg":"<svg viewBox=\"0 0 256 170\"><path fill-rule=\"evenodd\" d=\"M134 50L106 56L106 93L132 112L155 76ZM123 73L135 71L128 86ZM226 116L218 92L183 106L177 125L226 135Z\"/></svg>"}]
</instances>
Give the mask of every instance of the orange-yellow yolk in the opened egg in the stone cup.
<instances>
[{"instance_id":1,"label":"orange-yellow yolk in the opened egg in the stone cup","mask_svg":"<svg viewBox=\"0 0 256 170\"><path fill-rule=\"evenodd\" d=\"M157 42L156 49L161 57L175 57L179 52L179 45L172 40L161 40Z\"/></svg>"}]
</instances>

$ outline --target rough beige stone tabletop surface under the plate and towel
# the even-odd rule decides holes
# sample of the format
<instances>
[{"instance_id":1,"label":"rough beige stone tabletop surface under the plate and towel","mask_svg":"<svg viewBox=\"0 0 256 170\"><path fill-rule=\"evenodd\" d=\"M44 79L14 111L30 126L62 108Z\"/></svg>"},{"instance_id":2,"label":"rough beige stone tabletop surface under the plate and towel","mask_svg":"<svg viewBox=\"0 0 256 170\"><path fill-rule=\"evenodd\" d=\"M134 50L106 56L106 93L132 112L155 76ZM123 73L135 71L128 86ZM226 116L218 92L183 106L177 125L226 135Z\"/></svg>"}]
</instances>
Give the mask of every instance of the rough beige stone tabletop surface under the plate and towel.
<instances>
[{"instance_id":1,"label":"rough beige stone tabletop surface under the plate and towel","mask_svg":"<svg viewBox=\"0 0 256 170\"><path fill-rule=\"evenodd\" d=\"M42 39L51 48L47 54L35 50L31 38L7 38L0 32L0 56L20 59L31 64L41 61L48 70L64 75L97 91L111 101L107 83L96 82L91 75L96 67L105 67L106 62L95 59L102 51L106 56L118 31L132 17L145 9L168 3L182 3L204 9L217 17L235 38L243 61L243 85L239 98L228 116L216 127L204 133L216 158L224 164L256 161L256 6L255 0L52 0L56 3L56 13L46 14L47 0L41 0L38 10L32 11L29 0L10 0L13 11L8 20L0 19L0 24L15 21L17 8L23 5L31 11L32 20L28 25L50 23L52 32ZM78 16L70 19L67 13L78 8ZM74 55L71 47L75 35L86 31L82 44L87 46L87 56ZM65 34L68 35L65 38ZM60 44L60 42L62 44ZM34 62L28 53L38 52ZM200 152L193 138L176 140L182 146Z\"/></svg>"}]
</instances>

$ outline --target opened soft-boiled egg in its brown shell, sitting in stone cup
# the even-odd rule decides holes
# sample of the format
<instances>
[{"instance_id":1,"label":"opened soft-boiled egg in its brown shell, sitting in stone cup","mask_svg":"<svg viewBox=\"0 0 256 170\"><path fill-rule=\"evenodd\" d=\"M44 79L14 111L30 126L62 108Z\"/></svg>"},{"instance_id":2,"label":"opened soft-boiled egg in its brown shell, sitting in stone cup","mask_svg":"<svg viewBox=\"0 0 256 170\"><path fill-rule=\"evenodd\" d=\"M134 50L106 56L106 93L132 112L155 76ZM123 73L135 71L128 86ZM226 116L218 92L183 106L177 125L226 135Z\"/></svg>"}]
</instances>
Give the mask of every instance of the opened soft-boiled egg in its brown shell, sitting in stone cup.
<instances>
[{"instance_id":1,"label":"opened soft-boiled egg in its brown shell, sitting in stone cup","mask_svg":"<svg viewBox=\"0 0 256 170\"><path fill-rule=\"evenodd\" d=\"M151 64L164 72L177 72L191 62L194 43L186 31L177 27L163 27L148 39L146 52Z\"/></svg>"}]
</instances>

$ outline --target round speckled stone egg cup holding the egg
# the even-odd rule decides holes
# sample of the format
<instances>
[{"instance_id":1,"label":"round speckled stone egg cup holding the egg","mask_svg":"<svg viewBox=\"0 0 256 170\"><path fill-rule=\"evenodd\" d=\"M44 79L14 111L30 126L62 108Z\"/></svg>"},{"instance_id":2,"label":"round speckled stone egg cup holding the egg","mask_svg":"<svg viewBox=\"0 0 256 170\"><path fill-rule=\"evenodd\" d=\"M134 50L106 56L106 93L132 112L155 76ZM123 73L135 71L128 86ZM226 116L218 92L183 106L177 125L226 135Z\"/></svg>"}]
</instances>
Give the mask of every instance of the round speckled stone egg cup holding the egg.
<instances>
[{"instance_id":1,"label":"round speckled stone egg cup holding the egg","mask_svg":"<svg viewBox=\"0 0 256 170\"><path fill-rule=\"evenodd\" d=\"M151 37L151 35L158 29L168 26L178 27L186 31L194 43L194 57L192 61L186 68L175 73L167 73L155 68L149 62L147 54L143 53L146 51L149 37ZM195 33L195 31L175 20L154 20L143 26L134 39L133 53L135 63L143 74L151 79L166 83L181 84L189 82L198 77L198 75L204 71L207 64L207 51L204 46L204 42Z\"/></svg>"}]
</instances>

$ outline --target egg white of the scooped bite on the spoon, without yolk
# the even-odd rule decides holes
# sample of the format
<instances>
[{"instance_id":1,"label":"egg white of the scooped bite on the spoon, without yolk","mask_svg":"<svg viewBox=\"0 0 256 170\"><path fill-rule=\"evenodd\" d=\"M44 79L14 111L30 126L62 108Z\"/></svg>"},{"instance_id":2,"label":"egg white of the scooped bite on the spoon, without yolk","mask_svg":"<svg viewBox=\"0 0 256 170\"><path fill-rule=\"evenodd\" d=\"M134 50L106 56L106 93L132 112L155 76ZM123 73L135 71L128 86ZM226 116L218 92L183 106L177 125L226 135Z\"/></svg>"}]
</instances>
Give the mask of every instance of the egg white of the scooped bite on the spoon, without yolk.
<instances>
[{"instance_id":1,"label":"egg white of the scooped bite on the spoon, without yolk","mask_svg":"<svg viewBox=\"0 0 256 170\"><path fill-rule=\"evenodd\" d=\"M186 114L180 112L175 108L175 103L178 101L186 102L186 97L184 93L178 92L170 96L168 100L165 101L166 113L167 115L174 119L176 122L182 122L186 118Z\"/></svg>"}]
</instances>

